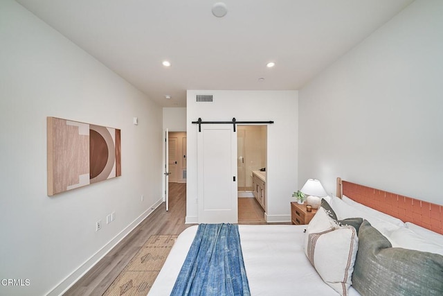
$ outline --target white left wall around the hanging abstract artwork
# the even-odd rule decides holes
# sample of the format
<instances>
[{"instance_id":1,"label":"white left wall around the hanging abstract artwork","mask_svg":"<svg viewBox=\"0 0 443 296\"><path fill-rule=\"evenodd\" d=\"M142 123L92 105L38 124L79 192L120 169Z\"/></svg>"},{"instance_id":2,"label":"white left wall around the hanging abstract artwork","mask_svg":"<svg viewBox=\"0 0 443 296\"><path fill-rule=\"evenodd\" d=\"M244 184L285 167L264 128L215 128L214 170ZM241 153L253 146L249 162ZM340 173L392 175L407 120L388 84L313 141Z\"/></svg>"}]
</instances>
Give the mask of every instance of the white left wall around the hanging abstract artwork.
<instances>
[{"instance_id":1,"label":"white left wall around the hanging abstract artwork","mask_svg":"<svg viewBox=\"0 0 443 296\"><path fill-rule=\"evenodd\" d=\"M0 294L57 295L161 202L162 110L15 1L0 44ZM49 198L46 116L120 128L122 176Z\"/></svg>"}]
</instances>

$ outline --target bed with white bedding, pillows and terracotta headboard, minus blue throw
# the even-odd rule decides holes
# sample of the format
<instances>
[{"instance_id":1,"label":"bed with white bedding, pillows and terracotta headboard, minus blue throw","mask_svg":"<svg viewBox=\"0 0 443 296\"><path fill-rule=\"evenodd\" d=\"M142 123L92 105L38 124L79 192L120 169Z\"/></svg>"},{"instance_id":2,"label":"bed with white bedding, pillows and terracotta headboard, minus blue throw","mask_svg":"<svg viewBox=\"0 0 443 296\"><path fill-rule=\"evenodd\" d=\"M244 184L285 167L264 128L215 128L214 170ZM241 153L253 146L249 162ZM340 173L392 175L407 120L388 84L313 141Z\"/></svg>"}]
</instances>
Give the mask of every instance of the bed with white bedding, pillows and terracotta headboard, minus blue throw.
<instances>
[{"instance_id":1,"label":"bed with white bedding, pillows and terracotta headboard, minus blue throw","mask_svg":"<svg viewBox=\"0 0 443 296\"><path fill-rule=\"evenodd\" d=\"M238 225L251 295L443 295L440 205L340 178L337 196L309 225ZM327 207L345 222L323 232ZM170 295L196 233L180 234L148 295Z\"/></svg>"}]
</instances>

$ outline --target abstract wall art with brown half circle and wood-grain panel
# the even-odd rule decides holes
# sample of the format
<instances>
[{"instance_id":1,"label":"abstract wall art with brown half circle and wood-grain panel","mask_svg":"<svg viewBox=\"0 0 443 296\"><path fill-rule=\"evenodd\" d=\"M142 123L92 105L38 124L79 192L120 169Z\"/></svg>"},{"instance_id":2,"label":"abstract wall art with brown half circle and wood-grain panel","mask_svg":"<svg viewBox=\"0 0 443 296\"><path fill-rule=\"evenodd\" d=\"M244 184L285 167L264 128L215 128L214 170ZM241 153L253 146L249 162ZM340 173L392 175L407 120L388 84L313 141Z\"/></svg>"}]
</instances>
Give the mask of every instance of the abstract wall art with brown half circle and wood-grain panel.
<instances>
[{"instance_id":1,"label":"abstract wall art with brown half circle and wood-grain panel","mask_svg":"<svg viewBox=\"0 0 443 296\"><path fill-rule=\"evenodd\" d=\"M47 118L48 195L121 175L120 130Z\"/></svg>"}]
</instances>

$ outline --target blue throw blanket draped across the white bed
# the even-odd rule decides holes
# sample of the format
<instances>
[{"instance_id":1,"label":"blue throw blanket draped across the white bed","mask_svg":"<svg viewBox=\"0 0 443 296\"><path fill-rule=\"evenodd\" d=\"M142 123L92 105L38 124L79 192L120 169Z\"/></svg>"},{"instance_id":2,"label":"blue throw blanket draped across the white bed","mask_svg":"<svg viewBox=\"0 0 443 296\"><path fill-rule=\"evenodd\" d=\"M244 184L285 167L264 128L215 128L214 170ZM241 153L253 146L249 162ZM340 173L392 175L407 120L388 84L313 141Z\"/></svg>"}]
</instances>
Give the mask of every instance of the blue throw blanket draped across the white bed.
<instances>
[{"instance_id":1,"label":"blue throw blanket draped across the white bed","mask_svg":"<svg viewBox=\"0 0 443 296\"><path fill-rule=\"evenodd\" d=\"M238 225L199 225L171 295L251 295Z\"/></svg>"}]
</instances>

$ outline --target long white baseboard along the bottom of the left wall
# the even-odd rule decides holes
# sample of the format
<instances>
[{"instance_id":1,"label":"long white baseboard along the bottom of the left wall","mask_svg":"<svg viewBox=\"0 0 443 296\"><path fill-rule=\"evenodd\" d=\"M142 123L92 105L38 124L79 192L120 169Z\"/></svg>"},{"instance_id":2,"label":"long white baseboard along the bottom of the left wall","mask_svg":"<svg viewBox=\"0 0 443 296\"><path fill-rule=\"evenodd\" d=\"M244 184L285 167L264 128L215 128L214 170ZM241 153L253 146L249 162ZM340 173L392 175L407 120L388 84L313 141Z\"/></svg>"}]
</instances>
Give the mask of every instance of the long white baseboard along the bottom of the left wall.
<instances>
[{"instance_id":1,"label":"long white baseboard along the bottom of the left wall","mask_svg":"<svg viewBox=\"0 0 443 296\"><path fill-rule=\"evenodd\" d=\"M143 214L138 216L134 221L132 221L131 224L127 225L125 229L123 229L119 234L114 236L114 238L111 239L106 245L104 245L100 250L96 252L96 254L93 254L87 261L84 261L82 265L80 265L76 270L71 272L71 275L60 281L60 284L57 284L52 290L50 290L46 295L47 296L53 296L53 295L62 295L64 294L75 282L77 282L81 277L83 277L91 268L93 268L94 265L98 263L106 254L111 251L120 241L125 238L129 233L134 230L135 227L137 227L147 216L150 216L150 214L159 207L159 205L163 202L163 198L152 204L151 207L149 207Z\"/></svg>"}]
</instances>

